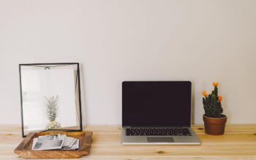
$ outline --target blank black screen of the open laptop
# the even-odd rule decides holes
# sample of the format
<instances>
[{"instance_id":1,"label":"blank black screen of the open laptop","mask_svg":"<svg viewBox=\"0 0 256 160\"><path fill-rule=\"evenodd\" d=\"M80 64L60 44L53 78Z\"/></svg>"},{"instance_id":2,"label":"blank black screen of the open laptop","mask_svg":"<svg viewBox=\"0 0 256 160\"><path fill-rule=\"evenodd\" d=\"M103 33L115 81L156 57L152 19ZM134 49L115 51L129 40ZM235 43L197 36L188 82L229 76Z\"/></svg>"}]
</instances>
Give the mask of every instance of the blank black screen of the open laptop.
<instances>
[{"instance_id":1,"label":"blank black screen of the open laptop","mask_svg":"<svg viewBox=\"0 0 256 160\"><path fill-rule=\"evenodd\" d=\"M124 81L122 125L190 127L190 81Z\"/></svg>"}]
</instances>

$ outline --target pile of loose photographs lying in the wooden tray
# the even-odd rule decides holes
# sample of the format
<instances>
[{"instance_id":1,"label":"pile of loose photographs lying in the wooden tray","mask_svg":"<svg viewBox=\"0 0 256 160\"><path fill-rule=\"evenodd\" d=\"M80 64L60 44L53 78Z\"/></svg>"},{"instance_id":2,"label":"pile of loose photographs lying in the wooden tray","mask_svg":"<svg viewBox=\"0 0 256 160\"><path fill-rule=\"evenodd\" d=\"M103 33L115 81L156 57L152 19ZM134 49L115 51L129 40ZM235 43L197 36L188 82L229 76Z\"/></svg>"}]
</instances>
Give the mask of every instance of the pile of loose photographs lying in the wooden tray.
<instances>
[{"instance_id":1,"label":"pile of loose photographs lying in the wooden tray","mask_svg":"<svg viewBox=\"0 0 256 160\"><path fill-rule=\"evenodd\" d=\"M42 135L33 139L32 150L77 150L79 140L67 135Z\"/></svg>"}]
</instances>

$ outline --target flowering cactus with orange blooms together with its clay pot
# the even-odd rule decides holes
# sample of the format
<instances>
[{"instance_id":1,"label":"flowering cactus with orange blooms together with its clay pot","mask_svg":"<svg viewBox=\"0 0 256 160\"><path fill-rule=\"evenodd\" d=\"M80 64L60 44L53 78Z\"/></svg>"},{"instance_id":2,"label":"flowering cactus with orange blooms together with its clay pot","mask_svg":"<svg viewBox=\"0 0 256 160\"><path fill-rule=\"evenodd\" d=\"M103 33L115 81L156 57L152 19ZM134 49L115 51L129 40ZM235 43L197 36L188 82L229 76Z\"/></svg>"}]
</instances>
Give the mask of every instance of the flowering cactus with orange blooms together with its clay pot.
<instances>
[{"instance_id":1,"label":"flowering cactus with orange blooms together with its clay pot","mask_svg":"<svg viewBox=\"0 0 256 160\"><path fill-rule=\"evenodd\" d=\"M211 94L208 94L206 91L202 92L203 108L205 110L203 121L206 134L223 135L227 116L222 114L222 96L218 95L219 83L214 81L213 85L214 90L211 91Z\"/></svg>"}]
</instances>

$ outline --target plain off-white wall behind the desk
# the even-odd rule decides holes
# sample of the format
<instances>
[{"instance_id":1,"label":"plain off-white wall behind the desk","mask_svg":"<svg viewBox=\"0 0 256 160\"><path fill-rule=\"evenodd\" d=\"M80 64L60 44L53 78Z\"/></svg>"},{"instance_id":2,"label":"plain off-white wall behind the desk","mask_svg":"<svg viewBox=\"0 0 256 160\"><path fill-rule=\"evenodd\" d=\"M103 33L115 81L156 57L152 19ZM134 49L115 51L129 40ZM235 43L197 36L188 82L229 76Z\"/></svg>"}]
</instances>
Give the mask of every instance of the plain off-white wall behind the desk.
<instances>
[{"instance_id":1,"label":"plain off-white wall behind the desk","mask_svg":"<svg viewBox=\"0 0 256 160\"><path fill-rule=\"evenodd\" d=\"M0 0L0 124L20 124L19 63L82 63L83 119L121 124L121 81L220 82L228 123L256 123L256 1Z\"/></svg>"}]
</instances>

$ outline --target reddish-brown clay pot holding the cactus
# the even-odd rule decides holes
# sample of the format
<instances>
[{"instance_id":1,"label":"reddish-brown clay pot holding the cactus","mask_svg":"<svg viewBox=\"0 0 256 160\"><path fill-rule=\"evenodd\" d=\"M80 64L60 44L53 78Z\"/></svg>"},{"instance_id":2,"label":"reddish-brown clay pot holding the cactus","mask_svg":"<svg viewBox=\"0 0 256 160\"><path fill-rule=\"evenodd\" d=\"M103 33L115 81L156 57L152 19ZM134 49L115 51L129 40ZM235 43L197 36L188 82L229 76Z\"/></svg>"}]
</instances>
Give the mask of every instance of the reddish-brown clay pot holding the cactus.
<instances>
[{"instance_id":1,"label":"reddish-brown clay pot holding the cactus","mask_svg":"<svg viewBox=\"0 0 256 160\"><path fill-rule=\"evenodd\" d=\"M227 116L222 118L211 118L203 115L203 121L205 124L206 134L209 135L223 135L225 131L225 124L227 122Z\"/></svg>"}]
</instances>

